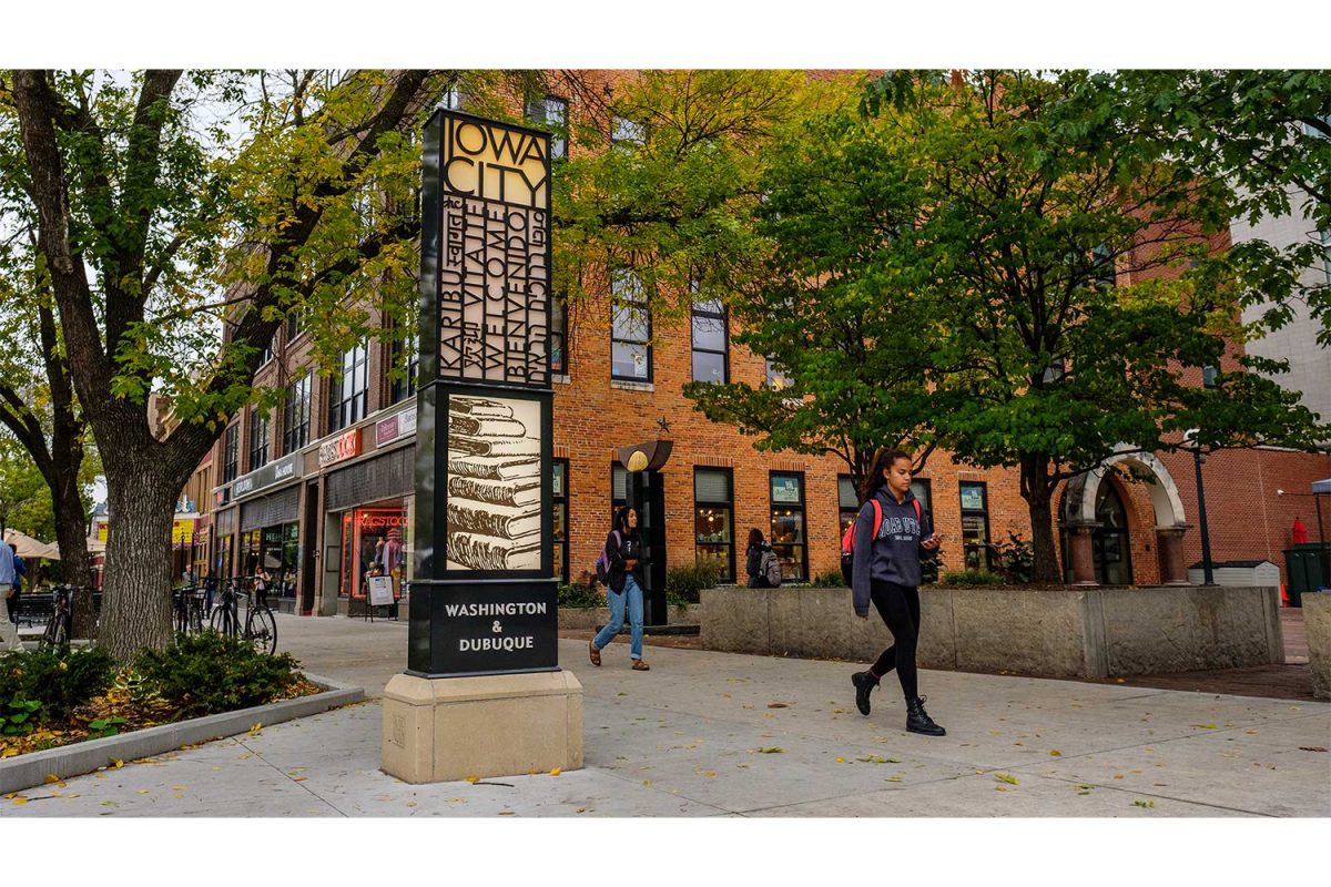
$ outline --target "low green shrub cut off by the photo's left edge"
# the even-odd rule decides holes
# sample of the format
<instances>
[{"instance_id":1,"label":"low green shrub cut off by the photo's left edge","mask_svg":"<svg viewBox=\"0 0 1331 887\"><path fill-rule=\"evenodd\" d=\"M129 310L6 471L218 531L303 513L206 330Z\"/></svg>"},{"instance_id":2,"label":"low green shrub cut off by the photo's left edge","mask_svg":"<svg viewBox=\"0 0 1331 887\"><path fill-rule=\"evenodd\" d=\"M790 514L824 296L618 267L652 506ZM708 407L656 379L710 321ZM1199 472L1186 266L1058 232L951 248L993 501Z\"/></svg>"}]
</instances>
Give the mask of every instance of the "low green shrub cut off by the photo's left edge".
<instances>
[{"instance_id":1,"label":"low green shrub cut off by the photo's left edge","mask_svg":"<svg viewBox=\"0 0 1331 887\"><path fill-rule=\"evenodd\" d=\"M100 646L40 649L0 660L0 706L37 702L33 721L64 721L69 713L106 692L116 661Z\"/></svg>"}]
</instances>

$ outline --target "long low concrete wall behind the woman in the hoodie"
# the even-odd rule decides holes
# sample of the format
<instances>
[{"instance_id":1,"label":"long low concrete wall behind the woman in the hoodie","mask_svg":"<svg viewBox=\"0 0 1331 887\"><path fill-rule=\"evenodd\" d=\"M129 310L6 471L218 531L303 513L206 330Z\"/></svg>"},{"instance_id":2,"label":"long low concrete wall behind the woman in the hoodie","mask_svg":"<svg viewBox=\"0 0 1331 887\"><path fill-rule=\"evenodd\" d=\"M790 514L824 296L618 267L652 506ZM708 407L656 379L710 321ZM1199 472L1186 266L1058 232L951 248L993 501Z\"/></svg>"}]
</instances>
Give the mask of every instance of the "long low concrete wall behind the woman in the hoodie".
<instances>
[{"instance_id":1,"label":"long low concrete wall behind the woman in the hoodie","mask_svg":"<svg viewBox=\"0 0 1331 887\"><path fill-rule=\"evenodd\" d=\"M920 590L924 668L1110 677L1284 661L1274 588ZM716 588L701 644L735 653L873 660L892 644L848 588Z\"/></svg>"}]
</instances>

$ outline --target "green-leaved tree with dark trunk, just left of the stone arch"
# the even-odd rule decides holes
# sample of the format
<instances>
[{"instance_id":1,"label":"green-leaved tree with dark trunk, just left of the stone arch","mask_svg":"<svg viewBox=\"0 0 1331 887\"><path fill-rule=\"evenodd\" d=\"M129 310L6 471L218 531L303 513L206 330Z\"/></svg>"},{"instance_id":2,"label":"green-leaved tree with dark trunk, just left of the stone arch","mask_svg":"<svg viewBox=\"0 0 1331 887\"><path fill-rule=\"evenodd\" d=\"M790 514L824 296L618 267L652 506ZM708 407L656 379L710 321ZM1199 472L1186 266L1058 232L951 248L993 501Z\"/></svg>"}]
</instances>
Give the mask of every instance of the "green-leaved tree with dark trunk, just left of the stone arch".
<instances>
[{"instance_id":1,"label":"green-leaved tree with dark trunk, just left of the stone arch","mask_svg":"<svg viewBox=\"0 0 1331 887\"><path fill-rule=\"evenodd\" d=\"M929 420L977 467L1017 467L1036 581L1058 581L1051 496L1121 444L1311 447L1314 416L1242 370L1214 390L1239 293L1213 258L1233 190L1125 124L1083 72L917 77L876 125L901 129L925 180L912 231L945 330ZM1264 370L1278 367L1242 360ZM1324 430L1322 430L1324 432Z\"/></svg>"}]
</instances>

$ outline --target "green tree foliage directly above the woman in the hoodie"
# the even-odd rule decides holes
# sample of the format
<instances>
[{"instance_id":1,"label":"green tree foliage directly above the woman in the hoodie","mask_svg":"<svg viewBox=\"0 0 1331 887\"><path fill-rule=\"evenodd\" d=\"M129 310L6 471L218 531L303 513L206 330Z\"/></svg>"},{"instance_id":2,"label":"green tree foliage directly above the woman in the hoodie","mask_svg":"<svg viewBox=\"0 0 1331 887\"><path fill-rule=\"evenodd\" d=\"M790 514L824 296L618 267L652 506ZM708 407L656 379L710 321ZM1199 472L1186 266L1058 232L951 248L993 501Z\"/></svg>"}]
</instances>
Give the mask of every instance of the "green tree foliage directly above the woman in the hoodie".
<instances>
[{"instance_id":1,"label":"green tree foliage directly above the woman in the hoodie","mask_svg":"<svg viewBox=\"0 0 1331 887\"><path fill-rule=\"evenodd\" d=\"M788 129L760 180L763 249L731 279L735 342L768 358L771 383L684 387L759 449L840 456L857 487L878 447L921 447L917 467L932 449L940 327L916 298L930 274L909 237L925 195L912 150L848 106Z\"/></svg>"}]
</instances>

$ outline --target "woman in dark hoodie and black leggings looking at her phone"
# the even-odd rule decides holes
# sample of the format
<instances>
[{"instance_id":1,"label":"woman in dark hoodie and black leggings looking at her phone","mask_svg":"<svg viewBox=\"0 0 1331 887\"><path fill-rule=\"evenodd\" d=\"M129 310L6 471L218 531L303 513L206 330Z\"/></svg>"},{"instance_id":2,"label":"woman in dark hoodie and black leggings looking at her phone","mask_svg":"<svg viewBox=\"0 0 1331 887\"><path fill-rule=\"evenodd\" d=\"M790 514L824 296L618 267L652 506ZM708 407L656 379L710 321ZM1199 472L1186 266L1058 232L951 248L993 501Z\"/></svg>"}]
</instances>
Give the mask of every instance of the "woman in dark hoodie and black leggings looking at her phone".
<instances>
[{"instance_id":1,"label":"woman in dark hoodie and black leggings looking at her phone","mask_svg":"<svg viewBox=\"0 0 1331 887\"><path fill-rule=\"evenodd\" d=\"M920 560L938 549L941 536L933 532L910 492L910 453L880 449L864 479L864 505L852 527L851 590L855 613L869 618L869 604L892 632L893 645L878 656L868 672L851 676L855 703L869 714L869 694L893 668L906 699L906 730L924 735L946 735L924 710L918 694L916 644L920 638Z\"/></svg>"}]
</instances>

